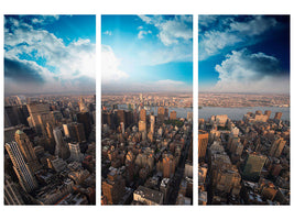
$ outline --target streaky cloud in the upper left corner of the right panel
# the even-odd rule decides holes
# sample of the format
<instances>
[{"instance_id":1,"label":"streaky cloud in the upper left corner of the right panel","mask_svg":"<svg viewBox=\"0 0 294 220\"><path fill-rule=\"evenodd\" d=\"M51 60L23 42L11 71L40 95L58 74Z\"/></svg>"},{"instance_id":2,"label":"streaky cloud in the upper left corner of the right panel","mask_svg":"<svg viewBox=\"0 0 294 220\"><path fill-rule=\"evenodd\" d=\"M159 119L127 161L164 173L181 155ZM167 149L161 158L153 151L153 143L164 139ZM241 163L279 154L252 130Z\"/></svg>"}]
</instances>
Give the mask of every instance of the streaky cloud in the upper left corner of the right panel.
<instances>
[{"instance_id":1,"label":"streaky cloud in the upper left corner of the right panel","mask_svg":"<svg viewBox=\"0 0 294 220\"><path fill-rule=\"evenodd\" d=\"M222 50L238 43L251 44L257 36L276 26L273 18L253 16L246 21L236 21L235 16L199 16L199 61L219 54ZM203 28L209 28L203 31ZM203 33L202 33L203 32Z\"/></svg>"}]
</instances>

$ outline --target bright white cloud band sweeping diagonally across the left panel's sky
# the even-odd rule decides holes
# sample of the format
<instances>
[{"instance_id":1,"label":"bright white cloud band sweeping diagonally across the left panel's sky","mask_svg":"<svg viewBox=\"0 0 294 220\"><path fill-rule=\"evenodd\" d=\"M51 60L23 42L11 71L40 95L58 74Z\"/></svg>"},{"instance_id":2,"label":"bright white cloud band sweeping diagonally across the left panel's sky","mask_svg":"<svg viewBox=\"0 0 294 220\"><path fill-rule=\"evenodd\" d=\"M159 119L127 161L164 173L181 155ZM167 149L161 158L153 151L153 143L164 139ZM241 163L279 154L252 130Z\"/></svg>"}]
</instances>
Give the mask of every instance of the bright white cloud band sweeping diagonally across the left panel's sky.
<instances>
[{"instance_id":1,"label":"bright white cloud band sweeping diagonally across the left panel's sky","mask_svg":"<svg viewBox=\"0 0 294 220\"><path fill-rule=\"evenodd\" d=\"M40 22L42 18L37 18L37 20L33 20L33 22ZM19 21L15 21L10 18L10 22L17 24ZM18 26L12 26L11 30L12 33L8 30L4 33L7 47L4 57L19 58L20 55L26 54L32 56L33 59L45 59L45 66L40 66L36 62L31 61L40 69L46 69L46 72L40 72L40 75L44 75L46 79L46 85L43 85L44 89L55 88L56 79L62 84L59 90L67 88L68 85L73 86L72 89L79 89L79 87L75 87L77 86L77 82L74 82L76 79L95 79L96 46L90 40L79 38L66 45L62 38L56 37L48 31L36 30L28 23L20 22ZM21 61L24 62L25 59ZM48 66L56 70L51 73ZM83 87L80 84L79 86ZM88 88L95 89L95 85Z\"/></svg>"}]
</instances>

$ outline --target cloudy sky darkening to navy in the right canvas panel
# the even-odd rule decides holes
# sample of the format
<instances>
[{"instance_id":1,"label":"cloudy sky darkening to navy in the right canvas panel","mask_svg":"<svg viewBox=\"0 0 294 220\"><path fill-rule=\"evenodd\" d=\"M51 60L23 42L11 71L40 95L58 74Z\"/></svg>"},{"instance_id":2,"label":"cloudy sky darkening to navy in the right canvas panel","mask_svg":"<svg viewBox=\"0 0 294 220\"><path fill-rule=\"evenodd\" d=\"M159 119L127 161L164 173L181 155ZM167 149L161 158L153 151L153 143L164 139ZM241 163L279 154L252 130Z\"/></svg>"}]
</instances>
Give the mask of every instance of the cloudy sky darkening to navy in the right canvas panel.
<instances>
[{"instance_id":1,"label":"cloudy sky darkening to navy in the right canvas panel","mask_svg":"<svg viewBox=\"0 0 294 220\"><path fill-rule=\"evenodd\" d=\"M288 15L199 15L199 91L290 92Z\"/></svg>"}]
</instances>

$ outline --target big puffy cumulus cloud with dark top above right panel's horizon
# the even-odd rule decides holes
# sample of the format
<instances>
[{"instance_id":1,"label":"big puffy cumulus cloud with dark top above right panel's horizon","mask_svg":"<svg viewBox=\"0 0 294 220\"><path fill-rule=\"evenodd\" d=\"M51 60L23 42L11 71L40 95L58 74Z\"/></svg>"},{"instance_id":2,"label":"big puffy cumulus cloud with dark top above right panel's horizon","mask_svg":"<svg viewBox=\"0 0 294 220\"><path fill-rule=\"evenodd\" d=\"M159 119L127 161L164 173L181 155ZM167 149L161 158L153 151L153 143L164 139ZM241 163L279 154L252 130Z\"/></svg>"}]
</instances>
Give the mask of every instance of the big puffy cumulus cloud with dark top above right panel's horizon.
<instances>
[{"instance_id":1,"label":"big puffy cumulus cloud with dark top above right panel's horizon","mask_svg":"<svg viewBox=\"0 0 294 220\"><path fill-rule=\"evenodd\" d=\"M279 61L263 53L233 51L215 67L219 80L211 91L287 92L288 77L280 72Z\"/></svg>"}]
</instances>

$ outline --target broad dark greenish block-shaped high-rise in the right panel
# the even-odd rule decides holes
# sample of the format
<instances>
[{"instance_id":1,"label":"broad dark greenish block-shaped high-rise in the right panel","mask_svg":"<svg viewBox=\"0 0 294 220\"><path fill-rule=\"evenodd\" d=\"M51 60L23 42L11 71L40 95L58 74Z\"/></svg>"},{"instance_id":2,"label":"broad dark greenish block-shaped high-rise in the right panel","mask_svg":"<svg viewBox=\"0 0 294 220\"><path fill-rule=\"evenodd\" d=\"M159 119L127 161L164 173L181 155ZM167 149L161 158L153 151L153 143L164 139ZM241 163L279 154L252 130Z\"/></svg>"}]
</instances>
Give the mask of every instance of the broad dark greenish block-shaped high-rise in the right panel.
<instances>
[{"instance_id":1,"label":"broad dark greenish block-shaped high-rise in the right panel","mask_svg":"<svg viewBox=\"0 0 294 220\"><path fill-rule=\"evenodd\" d=\"M266 156L257 153L249 154L244 165L243 177L248 180L258 180L265 162Z\"/></svg>"}]
</instances>

